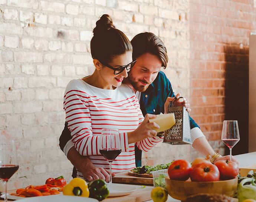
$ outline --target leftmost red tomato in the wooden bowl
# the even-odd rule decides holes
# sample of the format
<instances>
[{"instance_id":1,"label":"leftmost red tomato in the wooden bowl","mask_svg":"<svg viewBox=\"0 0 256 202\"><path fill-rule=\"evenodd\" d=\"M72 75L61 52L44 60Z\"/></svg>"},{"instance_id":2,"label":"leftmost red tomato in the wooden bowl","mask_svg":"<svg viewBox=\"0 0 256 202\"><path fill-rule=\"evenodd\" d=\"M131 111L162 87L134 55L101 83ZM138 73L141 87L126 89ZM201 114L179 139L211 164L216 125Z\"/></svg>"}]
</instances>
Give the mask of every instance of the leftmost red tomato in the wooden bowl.
<instances>
[{"instance_id":1,"label":"leftmost red tomato in the wooden bowl","mask_svg":"<svg viewBox=\"0 0 256 202\"><path fill-rule=\"evenodd\" d=\"M168 168L170 179L186 181L189 178L191 165L186 160L175 160Z\"/></svg>"}]
</instances>

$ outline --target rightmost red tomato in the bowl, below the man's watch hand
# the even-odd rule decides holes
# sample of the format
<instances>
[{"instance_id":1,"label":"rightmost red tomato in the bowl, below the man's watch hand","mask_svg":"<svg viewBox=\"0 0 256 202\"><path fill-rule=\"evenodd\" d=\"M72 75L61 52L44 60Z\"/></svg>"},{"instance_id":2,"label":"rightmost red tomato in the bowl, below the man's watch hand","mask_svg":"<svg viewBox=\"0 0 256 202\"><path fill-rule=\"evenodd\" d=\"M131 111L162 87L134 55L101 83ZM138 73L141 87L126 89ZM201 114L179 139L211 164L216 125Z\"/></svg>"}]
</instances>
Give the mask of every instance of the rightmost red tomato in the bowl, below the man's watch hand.
<instances>
[{"instance_id":1,"label":"rightmost red tomato in the bowl, below the man's watch hand","mask_svg":"<svg viewBox=\"0 0 256 202\"><path fill-rule=\"evenodd\" d=\"M239 173L238 165L229 160L218 160L215 165L219 168L220 179L234 179Z\"/></svg>"}]
</instances>

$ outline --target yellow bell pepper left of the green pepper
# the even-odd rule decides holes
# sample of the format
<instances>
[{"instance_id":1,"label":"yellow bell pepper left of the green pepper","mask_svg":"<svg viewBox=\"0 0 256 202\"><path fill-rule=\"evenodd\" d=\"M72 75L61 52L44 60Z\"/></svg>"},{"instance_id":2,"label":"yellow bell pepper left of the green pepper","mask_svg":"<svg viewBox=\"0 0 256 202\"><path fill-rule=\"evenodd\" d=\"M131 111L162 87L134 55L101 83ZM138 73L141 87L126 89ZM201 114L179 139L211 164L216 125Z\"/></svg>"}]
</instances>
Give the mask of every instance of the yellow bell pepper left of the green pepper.
<instances>
[{"instance_id":1,"label":"yellow bell pepper left of the green pepper","mask_svg":"<svg viewBox=\"0 0 256 202\"><path fill-rule=\"evenodd\" d=\"M63 195L89 197L89 189L85 180L74 178L63 188Z\"/></svg>"}]
</instances>

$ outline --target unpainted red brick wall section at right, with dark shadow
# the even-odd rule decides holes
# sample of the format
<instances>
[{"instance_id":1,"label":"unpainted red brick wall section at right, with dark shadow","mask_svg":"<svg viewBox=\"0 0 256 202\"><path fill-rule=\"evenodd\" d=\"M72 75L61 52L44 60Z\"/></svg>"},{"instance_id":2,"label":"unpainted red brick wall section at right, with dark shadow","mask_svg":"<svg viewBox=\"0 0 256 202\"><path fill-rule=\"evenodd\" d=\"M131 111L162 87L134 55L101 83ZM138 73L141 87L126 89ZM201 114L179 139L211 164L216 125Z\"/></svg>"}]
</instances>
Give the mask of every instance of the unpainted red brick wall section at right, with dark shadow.
<instances>
[{"instance_id":1,"label":"unpainted red brick wall section at right, with dark shadow","mask_svg":"<svg viewBox=\"0 0 256 202\"><path fill-rule=\"evenodd\" d=\"M241 138L233 153L248 152L249 34L255 30L255 1L190 1L191 115L221 154L223 120L230 119L238 120Z\"/></svg>"}]
</instances>

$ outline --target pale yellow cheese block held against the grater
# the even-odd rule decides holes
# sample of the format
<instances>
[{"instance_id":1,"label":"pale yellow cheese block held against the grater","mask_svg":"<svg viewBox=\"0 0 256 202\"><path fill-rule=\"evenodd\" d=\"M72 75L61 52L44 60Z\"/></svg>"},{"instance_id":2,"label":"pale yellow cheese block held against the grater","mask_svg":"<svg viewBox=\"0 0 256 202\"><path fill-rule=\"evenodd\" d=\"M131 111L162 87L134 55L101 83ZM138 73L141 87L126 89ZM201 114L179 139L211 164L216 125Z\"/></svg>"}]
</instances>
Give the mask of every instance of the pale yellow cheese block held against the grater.
<instances>
[{"instance_id":1,"label":"pale yellow cheese block held against the grater","mask_svg":"<svg viewBox=\"0 0 256 202\"><path fill-rule=\"evenodd\" d=\"M156 132L163 132L164 130L168 130L175 125L175 116L174 113L169 114L160 114L154 119L148 120L149 122L155 122L160 126L159 129L153 128Z\"/></svg>"}]
</instances>

